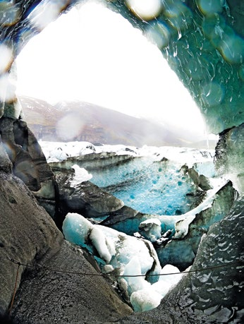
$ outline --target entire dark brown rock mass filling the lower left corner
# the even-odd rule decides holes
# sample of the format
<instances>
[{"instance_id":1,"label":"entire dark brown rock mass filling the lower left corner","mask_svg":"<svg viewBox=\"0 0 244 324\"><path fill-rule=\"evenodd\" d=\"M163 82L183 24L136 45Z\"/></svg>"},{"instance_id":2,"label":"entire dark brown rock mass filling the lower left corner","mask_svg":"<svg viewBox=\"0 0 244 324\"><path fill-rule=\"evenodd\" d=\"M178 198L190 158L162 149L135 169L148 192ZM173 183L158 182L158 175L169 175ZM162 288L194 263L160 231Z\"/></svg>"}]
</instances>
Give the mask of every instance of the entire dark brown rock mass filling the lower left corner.
<instances>
[{"instance_id":1,"label":"entire dark brown rock mass filling the lower left corner","mask_svg":"<svg viewBox=\"0 0 244 324\"><path fill-rule=\"evenodd\" d=\"M0 172L0 314L11 302L18 265L91 273L84 276L20 265L18 292L11 311L15 323L87 323L116 320L131 309L87 262L80 248L68 244L23 181ZM9 199L16 203L9 203ZM85 254L86 256L86 254ZM92 256L90 256L90 259ZM93 260L94 262L94 260ZM34 297L34 298L33 298Z\"/></svg>"}]
</instances>

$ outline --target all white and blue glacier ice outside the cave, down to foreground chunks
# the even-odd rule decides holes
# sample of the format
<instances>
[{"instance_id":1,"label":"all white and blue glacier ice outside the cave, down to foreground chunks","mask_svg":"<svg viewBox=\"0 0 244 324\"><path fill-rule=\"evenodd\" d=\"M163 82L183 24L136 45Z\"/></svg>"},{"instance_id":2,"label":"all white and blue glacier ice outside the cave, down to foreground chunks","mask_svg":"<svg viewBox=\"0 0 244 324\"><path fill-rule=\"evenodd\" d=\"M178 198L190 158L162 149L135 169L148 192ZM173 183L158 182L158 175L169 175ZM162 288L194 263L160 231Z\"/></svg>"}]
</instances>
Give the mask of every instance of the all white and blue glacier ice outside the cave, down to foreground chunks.
<instances>
[{"instance_id":1,"label":"all white and blue glacier ice outside the cave, down to foreground chunks","mask_svg":"<svg viewBox=\"0 0 244 324\"><path fill-rule=\"evenodd\" d=\"M153 244L164 246L165 242L170 248L170 242L173 241L176 250L181 251L181 240L188 235L196 215L212 207L216 193L226 184L226 179L214 178L211 151L147 147L126 150L123 145L104 145L93 146L91 152L88 144L41 143L49 162L68 161L71 157L71 161L74 162L73 157L82 155L92 155L96 160L96 154L101 151L132 155L133 159L109 164L109 167L101 160L101 166L97 167L98 164L95 164L93 169L90 166L89 172L82 167L78 158L77 165L66 166L70 165L75 169L72 180L75 185L79 181L90 180L123 200L125 205L130 205L140 212L136 217L121 219L111 227L93 224L82 215L68 213L63 222L63 234L68 241L83 246L92 253L102 273L111 275L115 286L135 311L150 310L157 307L172 285L181 279L181 275L160 276L165 272L180 271L172 263L165 262L164 255L161 256L164 248L160 250L160 245L157 245L155 250ZM201 189L185 172L185 166L211 178L212 189L209 189L194 207L190 198L188 201L188 193L195 193ZM209 224L206 226L209 227ZM167 231L169 235L162 237ZM137 237L133 236L135 232L139 232ZM193 254L193 258L194 240L195 238L190 239L185 248L186 253ZM174 252L174 256L177 251ZM183 258L183 264L187 265L185 268L191 264L188 259L189 256ZM164 262L161 263L161 260ZM161 265L164 268L161 268ZM181 270L185 268L181 265Z\"/></svg>"}]
</instances>

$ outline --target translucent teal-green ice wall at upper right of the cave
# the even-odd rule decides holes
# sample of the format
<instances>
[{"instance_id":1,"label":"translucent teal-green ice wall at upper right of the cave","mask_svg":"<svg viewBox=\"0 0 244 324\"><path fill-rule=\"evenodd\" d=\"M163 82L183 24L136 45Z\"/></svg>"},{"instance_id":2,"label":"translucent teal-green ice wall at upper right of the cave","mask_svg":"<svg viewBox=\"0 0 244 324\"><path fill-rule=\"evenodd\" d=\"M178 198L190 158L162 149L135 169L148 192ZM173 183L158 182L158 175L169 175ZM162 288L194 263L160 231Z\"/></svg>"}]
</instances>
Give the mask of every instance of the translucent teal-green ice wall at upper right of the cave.
<instances>
[{"instance_id":1,"label":"translucent teal-green ice wall at upper right of the cave","mask_svg":"<svg viewBox=\"0 0 244 324\"><path fill-rule=\"evenodd\" d=\"M124 3L123 3L124 2ZM243 6L238 1L111 1L157 44L212 133L243 122Z\"/></svg>"}]
</instances>

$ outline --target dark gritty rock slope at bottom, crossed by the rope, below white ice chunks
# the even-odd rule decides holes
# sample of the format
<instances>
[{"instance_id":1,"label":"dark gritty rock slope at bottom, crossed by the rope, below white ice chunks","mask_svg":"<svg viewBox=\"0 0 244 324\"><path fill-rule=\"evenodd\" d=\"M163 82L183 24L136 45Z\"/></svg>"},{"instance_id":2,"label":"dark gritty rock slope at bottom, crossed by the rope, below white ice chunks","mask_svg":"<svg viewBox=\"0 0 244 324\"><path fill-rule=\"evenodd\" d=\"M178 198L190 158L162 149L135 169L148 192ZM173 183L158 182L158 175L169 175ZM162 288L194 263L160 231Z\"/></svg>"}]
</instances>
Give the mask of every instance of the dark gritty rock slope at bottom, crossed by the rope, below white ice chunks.
<instances>
[{"instance_id":1,"label":"dark gritty rock slope at bottom, crossed by the rope, below white ice chunks","mask_svg":"<svg viewBox=\"0 0 244 324\"><path fill-rule=\"evenodd\" d=\"M57 319L59 323L106 323L132 313L104 277L85 260L82 250L67 241L63 241L59 252L44 266L63 272L26 272L13 306L12 316L18 323L46 324ZM33 302L32 296L37 302Z\"/></svg>"}]
</instances>

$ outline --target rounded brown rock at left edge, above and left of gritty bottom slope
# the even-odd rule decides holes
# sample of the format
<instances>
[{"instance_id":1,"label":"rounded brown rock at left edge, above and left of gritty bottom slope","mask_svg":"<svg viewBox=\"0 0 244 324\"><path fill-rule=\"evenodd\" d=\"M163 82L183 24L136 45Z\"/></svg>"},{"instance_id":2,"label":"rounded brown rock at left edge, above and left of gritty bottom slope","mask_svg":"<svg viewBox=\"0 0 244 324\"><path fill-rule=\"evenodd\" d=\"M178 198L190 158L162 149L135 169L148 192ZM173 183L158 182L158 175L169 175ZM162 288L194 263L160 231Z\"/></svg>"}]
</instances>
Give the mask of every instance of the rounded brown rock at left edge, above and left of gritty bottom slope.
<instances>
[{"instance_id":1,"label":"rounded brown rock at left edge, above and left of gritty bottom slope","mask_svg":"<svg viewBox=\"0 0 244 324\"><path fill-rule=\"evenodd\" d=\"M4 313L11 301L17 270L8 258L32 263L49 250L51 257L59 250L63 237L23 181L0 172L0 193L0 313ZM20 276L24 270L20 268Z\"/></svg>"}]
</instances>

